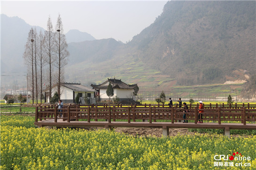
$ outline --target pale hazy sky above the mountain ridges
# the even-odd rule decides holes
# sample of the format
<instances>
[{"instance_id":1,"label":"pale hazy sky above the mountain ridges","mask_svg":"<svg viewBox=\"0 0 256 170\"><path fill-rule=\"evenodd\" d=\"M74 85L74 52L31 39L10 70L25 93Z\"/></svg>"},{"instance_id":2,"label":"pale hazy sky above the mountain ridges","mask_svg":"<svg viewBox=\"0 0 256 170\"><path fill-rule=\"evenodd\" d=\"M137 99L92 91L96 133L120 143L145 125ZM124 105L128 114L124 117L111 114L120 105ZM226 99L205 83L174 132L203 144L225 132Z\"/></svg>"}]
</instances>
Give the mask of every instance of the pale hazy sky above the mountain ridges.
<instances>
[{"instance_id":1,"label":"pale hazy sky above the mountain ridges","mask_svg":"<svg viewBox=\"0 0 256 170\"><path fill-rule=\"evenodd\" d=\"M64 32L80 30L96 39L126 42L139 34L163 12L167 0L158 1L65 1L1 0L1 14L18 16L32 26L46 29L50 16L55 28L60 14Z\"/></svg>"}]
</instances>

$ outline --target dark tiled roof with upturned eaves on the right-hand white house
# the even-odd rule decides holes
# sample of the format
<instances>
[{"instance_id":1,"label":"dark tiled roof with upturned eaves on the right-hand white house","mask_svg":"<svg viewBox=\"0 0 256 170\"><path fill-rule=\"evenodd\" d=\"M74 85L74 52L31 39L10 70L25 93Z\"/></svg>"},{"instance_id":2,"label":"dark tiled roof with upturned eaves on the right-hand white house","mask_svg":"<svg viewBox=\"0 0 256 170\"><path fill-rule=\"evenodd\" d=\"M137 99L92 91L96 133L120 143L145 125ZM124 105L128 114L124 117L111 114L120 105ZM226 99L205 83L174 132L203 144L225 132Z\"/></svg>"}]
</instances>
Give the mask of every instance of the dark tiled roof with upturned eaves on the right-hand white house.
<instances>
[{"instance_id":1,"label":"dark tiled roof with upturned eaves on the right-hand white house","mask_svg":"<svg viewBox=\"0 0 256 170\"><path fill-rule=\"evenodd\" d=\"M111 83L113 89L134 89L137 84L126 84L121 79L108 79L100 85L91 84L93 89L108 89L109 83Z\"/></svg>"}]
</instances>

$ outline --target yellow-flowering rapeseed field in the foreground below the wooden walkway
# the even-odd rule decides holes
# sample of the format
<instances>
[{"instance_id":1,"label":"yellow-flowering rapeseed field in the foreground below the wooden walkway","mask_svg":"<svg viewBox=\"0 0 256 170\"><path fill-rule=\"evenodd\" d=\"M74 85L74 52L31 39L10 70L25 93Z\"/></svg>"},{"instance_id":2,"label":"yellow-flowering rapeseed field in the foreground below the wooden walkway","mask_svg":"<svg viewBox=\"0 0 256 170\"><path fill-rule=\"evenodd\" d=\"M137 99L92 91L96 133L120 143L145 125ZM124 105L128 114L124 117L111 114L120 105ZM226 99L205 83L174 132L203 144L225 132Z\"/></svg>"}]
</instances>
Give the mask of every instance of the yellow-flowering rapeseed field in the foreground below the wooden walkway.
<instances>
[{"instance_id":1,"label":"yellow-flowering rapeseed field in the foreground below the wooden walkway","mask_svg":"<svg viewBox=\"0 0 256 170\"><path fill-rule=\"evenodd\" d=\"M35 128L33 121L1 116L0 170L256 169L256 136L133 137L108 130ZM216 160L236 152L250 160Z\"/></svg>"}]
</instances>

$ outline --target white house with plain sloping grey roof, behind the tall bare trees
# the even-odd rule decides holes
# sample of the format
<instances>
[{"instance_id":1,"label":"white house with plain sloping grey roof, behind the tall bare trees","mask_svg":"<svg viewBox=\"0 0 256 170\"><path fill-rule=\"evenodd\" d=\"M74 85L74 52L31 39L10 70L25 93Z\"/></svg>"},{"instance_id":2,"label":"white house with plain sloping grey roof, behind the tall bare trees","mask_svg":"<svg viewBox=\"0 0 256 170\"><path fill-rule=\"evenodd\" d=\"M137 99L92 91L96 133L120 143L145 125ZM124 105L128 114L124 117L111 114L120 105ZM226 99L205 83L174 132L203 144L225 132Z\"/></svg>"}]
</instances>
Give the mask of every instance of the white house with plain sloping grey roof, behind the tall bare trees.
<instances>
[{"instance_id":1,"label":"white house with plain sloping grey roof, behind the tall bare trees","mask_svg":"<svg viewBox=\"0 0 256 170\"><path fill-rule=\"evenodd\" d=\"M57 84L52 86L52 96L56 91L58 91ZM49 88L43 90L43 93L45 93L45 101L49 103ZM61 83L61 100L63 103L76 103L77 94L83 98L94 97L94 90L81 85L81 83Z\"/></svg>"}]
</instances>

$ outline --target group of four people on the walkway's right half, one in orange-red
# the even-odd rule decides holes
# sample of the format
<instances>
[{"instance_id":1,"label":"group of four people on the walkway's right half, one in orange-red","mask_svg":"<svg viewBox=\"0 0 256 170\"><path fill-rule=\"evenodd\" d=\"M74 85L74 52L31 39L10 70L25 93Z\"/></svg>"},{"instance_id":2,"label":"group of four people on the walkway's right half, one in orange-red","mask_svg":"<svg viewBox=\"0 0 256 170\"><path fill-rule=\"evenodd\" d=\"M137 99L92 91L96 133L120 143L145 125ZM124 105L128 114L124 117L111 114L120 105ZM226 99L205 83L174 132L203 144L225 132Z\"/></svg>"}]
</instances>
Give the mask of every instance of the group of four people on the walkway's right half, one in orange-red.
<instances>
[{"instance_id":1,"label":"group of four people on the walkway's right half, one in orange-red","mask_svg":"<svg viewBox=\"0 0 256 170\"><path fill-rule=\"evenodd\" d=\"M169 98L169 103L168 103L168 105L169 105L169 107L172 107L172 100L171 100L171 97ZM178 98L178 107L179 108L181 108L181 106L182 106L182 101L181 101L181 98ZM202 122L202 113L203 113L203 103L202 103L202 101L199 101L198 102L199 103L199 108L198 108L198 112L199 112L199 114L198 114L198 122L197 123L203 123ZM187 121L187 119L186 119L186 113L187 112L189 112L189 110L188 110L188 106L186 105L186 103L184 102L183 103L183 112L184 112L184 114L183 114L183 119L184 119L184 121L183 121L183 123L188 123L188 121Z\"/></svg>"}]
</instances>

